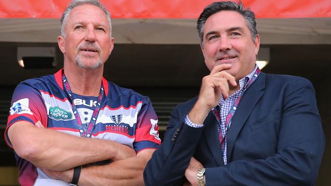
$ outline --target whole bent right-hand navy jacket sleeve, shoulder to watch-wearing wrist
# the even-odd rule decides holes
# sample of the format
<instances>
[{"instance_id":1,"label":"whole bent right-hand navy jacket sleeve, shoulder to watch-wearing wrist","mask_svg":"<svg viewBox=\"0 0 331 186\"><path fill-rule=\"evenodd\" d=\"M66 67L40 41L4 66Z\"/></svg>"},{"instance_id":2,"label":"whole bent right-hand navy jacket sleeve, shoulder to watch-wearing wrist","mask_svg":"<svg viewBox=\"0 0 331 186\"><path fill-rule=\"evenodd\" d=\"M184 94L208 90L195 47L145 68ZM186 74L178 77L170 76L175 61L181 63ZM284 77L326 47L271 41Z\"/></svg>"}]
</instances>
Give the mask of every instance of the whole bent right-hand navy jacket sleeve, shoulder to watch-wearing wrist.
<instances>
[{"instance_id":1,"label":"whole bent right-hand navy jacket sleeve, shoulder to watch-wearing wrist","mask_svg":"<svg viewBox=\"0 0 331 186\"><path fill-rule=\"evenodd\" d=\"M206 185L314 185L325 143L314 88L299 78L283 93L277 153L207 168Z\"/></svg>"}]
</instances>

